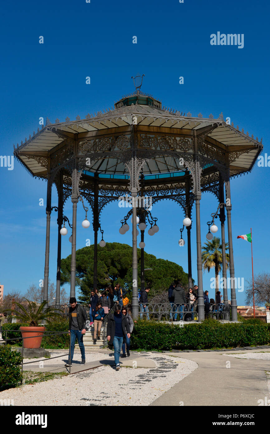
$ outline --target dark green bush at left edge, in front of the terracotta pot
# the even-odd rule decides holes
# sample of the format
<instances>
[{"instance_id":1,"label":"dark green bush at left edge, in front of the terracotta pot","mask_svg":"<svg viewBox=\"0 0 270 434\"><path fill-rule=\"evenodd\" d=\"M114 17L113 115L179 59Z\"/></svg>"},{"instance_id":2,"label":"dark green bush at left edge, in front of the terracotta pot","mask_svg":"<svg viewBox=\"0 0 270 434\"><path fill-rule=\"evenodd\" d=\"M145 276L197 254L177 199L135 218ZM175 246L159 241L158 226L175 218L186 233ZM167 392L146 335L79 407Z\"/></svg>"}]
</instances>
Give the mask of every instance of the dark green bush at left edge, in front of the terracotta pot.
<instances>
[{"instance_id":1,"label":"dark green bush at left edge, in front of the terracotta pot","mask_svg":"<svg viewBox=\"0 0 270 434\"><path fill-rule=\"evenodd\" d=\"M16 387L22 379L22 356L9 345L0 346L0 391Z\"/></svg>"}]
</instances>

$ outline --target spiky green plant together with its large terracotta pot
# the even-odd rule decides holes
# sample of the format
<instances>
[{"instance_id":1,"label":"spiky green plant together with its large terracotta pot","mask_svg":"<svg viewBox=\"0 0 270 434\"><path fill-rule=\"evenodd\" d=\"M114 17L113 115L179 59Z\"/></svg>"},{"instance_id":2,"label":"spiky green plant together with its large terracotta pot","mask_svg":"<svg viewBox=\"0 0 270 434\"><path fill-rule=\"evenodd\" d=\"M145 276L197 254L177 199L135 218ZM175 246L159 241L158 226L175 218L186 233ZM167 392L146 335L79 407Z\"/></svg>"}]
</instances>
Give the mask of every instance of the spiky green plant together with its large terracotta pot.
<instances>
[{"instance_id":1,"label":"spiky green plant together with its large terracotta pot","mask_svg":"<svg viewBox=\"0 0 270 434\"><path fill-rule=\"evenodd\" d=\"M35 302L29 301L28 306L24 307L20 303L16 302L16 306L21 310L12 310L12 313L15 313L16 319L20 319L22 322L29 324L28 326L21 326L19 329L22 333L23 339L23 347L24 348L40 348L42 336L45 332L45 327L39 326L39 324L48 318L59 316L59 309L52 309L51 307L47 307L44 309L46 305L46 301L42 302L40 306L38 306ZM43 312L42 312L43 311ZM35 336L35 338L33 337Z\"/></svg>"}]
</instances>

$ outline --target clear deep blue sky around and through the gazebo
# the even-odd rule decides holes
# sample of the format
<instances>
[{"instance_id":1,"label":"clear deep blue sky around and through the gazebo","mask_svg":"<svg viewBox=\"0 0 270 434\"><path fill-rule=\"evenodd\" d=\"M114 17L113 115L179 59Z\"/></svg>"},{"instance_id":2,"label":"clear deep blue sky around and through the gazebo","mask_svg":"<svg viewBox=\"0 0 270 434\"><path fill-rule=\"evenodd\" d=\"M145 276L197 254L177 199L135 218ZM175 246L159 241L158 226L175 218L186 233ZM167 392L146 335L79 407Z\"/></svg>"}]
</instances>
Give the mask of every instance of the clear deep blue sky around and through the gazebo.
<instances>
[{"instance_id":1,"label":"clear deep blue sky around and through the gazebo","mask_svg":"<svg viewBox=\"0 0 270 434\"><path fill-rule=\"evenodd\" d=\"M244 132L263 138L269 148L269 4L260 0L212 1L28 1L6 2L1 7L0 155L12 155L39 126L39 117L61 122L68 116L111 107L132 92L131 76L145 74L142 90L163 105L204 117L223 112ZM212 33L244 34L244 48L212 46ZM44 44L39 44L44 36ZM132 43L137 36L137 44ZM90 76L91 84L85 83ZM179 84L179 77L184 84ZM237 240L252 227L254 273L269 271L270 168L254 166L250 174L231 180L232 231L235 276L251 278L251 245ZM44 276L46 182L32 178L14 161L13 171L0 168L0 282L4 293L38 285ZM52 205L57 205L53 192ZM80 204L79 204L80 205ZM216 211L212 194L202 194L202 242L206 222ZM65 214L71 218L71 203ZM187 250L178 246L183 212L163 201L153 207L160 230L146 235L145 250L175 261L187 271ZM116 203L101 215L107 242L132 244L131 231L119 234L124 212ZM193 216L195 217L194 209ZM57 214L51 214L50 278L56 280ZM78 221L84 212L78 206ZM193 278L196 272L195 220L192 231ZM220 225L217 236L221 235ZM77 247L93 241L92 225L80 224ZM226 237L227 240L227 237ZM71 253L68 237L62 240L62 257ZM147 265L147 264L146 264ZM209 289L214 271L203 274ZM68 286L66 286L67 291ZM213 290L212 290L213 293ZM212 296L210 290L210 296ZM244 292L237 293L238 305Z\"/></svg>"}]
</instances>

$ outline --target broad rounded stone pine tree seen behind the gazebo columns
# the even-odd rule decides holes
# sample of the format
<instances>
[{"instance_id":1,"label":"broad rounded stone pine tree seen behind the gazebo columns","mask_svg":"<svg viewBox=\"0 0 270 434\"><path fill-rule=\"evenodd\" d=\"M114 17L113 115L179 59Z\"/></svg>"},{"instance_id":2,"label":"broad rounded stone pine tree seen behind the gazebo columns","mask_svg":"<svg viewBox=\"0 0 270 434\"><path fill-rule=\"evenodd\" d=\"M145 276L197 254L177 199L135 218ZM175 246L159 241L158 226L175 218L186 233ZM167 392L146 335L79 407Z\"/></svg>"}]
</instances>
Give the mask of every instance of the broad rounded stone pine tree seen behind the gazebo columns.
<instances>
[{"instance_id":1,"label":"broad rounded stone pine tree seen behind the gazebo columns","mask_svg":"<svg viewBox=\"0 0 270 434\"><path fill-rule=\"evenodd\" d=\"M97 246L97 287L106 288L109 284L119 283L132 293L132 247L128 244L106 243L105 247ZM140 288L141 249L138 249L138 287ZM90 290L93 288L93 245L76 252L76 284L80 286L80 300L89 301ZM61 260L61 285L70 282L71 255ZM167 289L174 279L180 279L184 285L188 283L188 275L183 268L171 261L157 259L145 252L145 285L149 284L151 292L161 293Z\"/></svg>"}]
</instances>

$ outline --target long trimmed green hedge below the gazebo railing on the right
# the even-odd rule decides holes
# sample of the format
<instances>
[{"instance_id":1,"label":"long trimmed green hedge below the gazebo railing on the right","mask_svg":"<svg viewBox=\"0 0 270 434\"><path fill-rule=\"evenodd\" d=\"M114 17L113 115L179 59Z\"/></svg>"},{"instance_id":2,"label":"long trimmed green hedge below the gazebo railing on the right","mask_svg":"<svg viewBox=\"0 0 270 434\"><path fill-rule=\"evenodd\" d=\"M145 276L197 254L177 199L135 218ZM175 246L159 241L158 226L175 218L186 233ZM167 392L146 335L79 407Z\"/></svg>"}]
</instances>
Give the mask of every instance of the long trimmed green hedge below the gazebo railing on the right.
<instances>
[{"instance_id":1,"label":"long trimmed green hedge below the gazebo railing on the right","mask_svg":"<svg viewBox=\"0 0 270 434\"><path fill-rule=\"evenodd\" d=\"M270 324L263 322L220 323L209 319L201 324L178 325L138 320L131 335L131 349L212 349L266 345Z\"/></svg>"}]
</instances>

